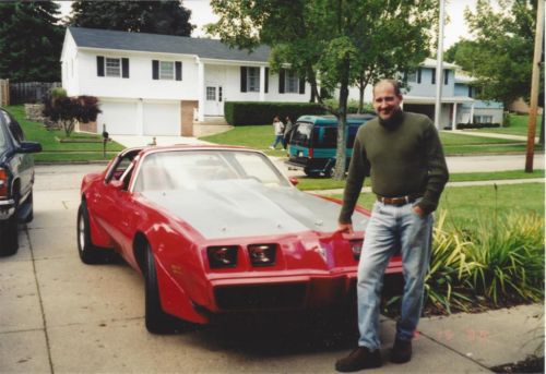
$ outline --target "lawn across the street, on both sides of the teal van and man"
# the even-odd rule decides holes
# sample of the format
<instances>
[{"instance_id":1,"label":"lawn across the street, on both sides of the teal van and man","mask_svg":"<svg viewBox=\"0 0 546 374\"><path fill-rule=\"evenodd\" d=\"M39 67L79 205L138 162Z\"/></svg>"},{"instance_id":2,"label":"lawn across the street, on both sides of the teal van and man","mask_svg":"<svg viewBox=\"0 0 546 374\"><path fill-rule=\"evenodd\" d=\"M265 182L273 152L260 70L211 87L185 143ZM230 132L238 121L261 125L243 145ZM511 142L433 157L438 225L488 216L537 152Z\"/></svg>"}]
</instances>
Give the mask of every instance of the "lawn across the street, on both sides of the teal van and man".
<instances>
[{"instance_id":1,"label":"lawn across the street, on both sides of the teal van and man","mask_svg":"<svg viewBox=\"0 0 546 374\"><path fill-rule=\"evenodd\" d=\"M222 134L200 137L203 141L227 144L242 145L251 148L262 149L270 156L285 156L283 149L272 150L269 146L273 142L273 126L251 125L236 126ZM450 132L440 132L444 152L447 155L461 154L498 154L498 153L522 153L525 152L525 142L514 142L511 140L476 137ZM537 148L537 150L544 147Z\"/></svg>"}]
</instances>

